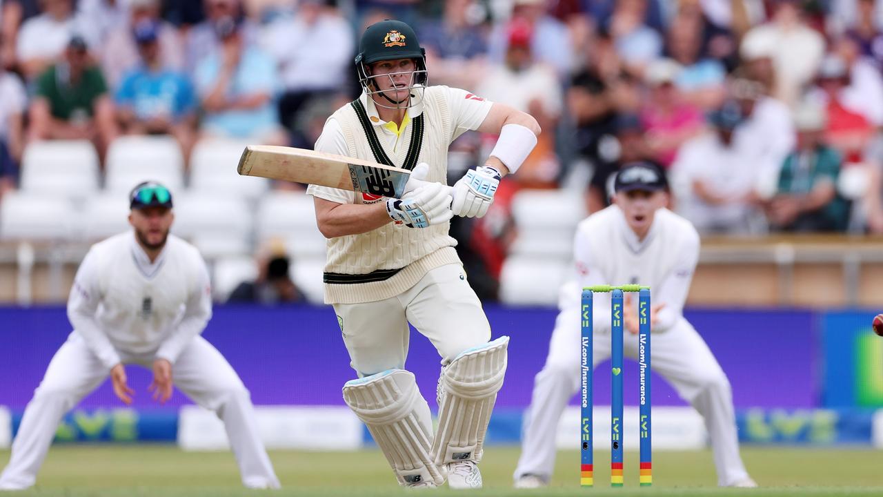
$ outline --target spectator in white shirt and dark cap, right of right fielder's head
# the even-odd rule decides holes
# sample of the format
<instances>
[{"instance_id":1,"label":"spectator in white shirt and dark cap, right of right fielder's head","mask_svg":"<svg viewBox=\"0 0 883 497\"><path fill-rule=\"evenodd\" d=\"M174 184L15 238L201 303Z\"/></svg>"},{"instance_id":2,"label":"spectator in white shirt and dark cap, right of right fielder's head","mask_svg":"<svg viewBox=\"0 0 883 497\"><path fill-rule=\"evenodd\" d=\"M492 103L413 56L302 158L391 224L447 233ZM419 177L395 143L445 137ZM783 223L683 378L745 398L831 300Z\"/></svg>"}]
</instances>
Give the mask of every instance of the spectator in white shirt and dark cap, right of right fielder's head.
<instances>
[{"instance_id":1,"label":"spectator in white shirt and dark cap, right of right fielder's head","mask_svg":"<svg viewBox=\"0 0 883 497\"><path fill-rule=\"evenodd\" d=\"M758 164L746 144L735 140L742 109L730 101L710 112L708 120L712 129L684 143L672 165L678 213L699 233L757 233L764 226L754 193Z\"/></svg>"}]
</instances>

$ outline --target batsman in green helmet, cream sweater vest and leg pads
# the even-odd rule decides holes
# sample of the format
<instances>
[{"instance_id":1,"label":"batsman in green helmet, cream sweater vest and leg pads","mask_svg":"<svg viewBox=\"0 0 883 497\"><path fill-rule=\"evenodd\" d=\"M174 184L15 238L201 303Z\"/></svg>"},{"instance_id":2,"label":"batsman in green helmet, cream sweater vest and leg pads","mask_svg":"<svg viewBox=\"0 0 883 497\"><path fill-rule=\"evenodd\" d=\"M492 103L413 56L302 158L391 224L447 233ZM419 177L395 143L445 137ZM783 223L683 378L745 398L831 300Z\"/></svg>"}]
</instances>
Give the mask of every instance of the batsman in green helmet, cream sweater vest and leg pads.
<instances>
[{"instance_id":1,"label":"batsman in green helmet, cream sweater vest and leg pads","mask_svg":"<svg viewBox=\"0 0 883 497\"><path fill-rule=\"evenodd\" d=\"M506 371L508 337L490 341L469 286L454 215L481 217L503 174L537 142L535 119L461 89L426 86L426 59L404 22L366 29L356 57L364 89L325 123L315 149L413 170L401 200L310 186L328 238L325 302L334 305L359 379L343 399L365 422L402 486L482 485L487 423ZM485 165L451 188L448 147L467 130L500 134ZM383 186L382 178L372 179ZM414 375L404 370L408 323L442 357L439 426Z\"/></svg>"}]
</instances>

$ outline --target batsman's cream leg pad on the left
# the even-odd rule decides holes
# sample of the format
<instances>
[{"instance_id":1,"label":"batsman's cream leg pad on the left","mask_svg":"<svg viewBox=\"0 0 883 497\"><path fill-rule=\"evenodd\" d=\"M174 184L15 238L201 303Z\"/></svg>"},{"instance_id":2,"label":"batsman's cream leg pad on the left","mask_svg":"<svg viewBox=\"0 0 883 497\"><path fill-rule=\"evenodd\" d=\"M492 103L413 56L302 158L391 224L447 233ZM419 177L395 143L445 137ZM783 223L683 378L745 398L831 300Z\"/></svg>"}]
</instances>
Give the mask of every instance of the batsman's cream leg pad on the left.
<instances>
[{"instance_id":1,"label":"batsman's cream leg pad on the left","mask_svg":"<svg viewBox=\"0 0 883 497\"><path fill-rule=\"evenodd\" d=\"M444 483L442 471L429 455L432 421L413 373L387 370L353 379L343 385L343 400L367 425L400 485ZM421 408L425 419L420 417Z\"/></svg>"}]
</instances>

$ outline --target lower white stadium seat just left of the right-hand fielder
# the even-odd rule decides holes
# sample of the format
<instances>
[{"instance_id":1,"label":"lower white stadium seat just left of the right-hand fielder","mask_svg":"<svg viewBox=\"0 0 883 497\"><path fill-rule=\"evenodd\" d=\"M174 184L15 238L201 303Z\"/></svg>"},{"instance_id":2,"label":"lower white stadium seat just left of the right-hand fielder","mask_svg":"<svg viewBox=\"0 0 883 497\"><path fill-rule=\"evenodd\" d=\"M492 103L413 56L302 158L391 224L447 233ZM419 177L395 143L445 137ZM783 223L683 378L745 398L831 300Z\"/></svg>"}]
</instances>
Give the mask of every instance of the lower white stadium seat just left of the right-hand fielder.
<instances>
[{"instance_id":1,"label":"lower white stadium seat just left of the right-hand fielder","mask_svg":"<svg viewBox=\"0 0 883 497\"><path fill-rule=\"evenodd\" d=\"M555 305L570 263L542 257L509 256L500 274L500 301L512 305Z\"/></svg>"}]
</instances>

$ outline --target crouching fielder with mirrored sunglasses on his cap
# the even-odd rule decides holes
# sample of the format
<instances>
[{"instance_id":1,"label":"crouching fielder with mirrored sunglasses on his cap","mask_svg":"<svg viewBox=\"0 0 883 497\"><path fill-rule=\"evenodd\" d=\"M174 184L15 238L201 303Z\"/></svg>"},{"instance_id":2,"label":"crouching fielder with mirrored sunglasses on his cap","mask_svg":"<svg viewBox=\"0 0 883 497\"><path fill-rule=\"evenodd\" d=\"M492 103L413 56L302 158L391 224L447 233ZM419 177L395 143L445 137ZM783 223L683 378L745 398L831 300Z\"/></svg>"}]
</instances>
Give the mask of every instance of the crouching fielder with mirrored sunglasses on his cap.
<instances>
[{"instance_id":1,"label":"crouching fielder with mirrored sunglasses on his cap","mask_svg":"<svg viewBox=\"0 0 883 497\"><path fill-rule=\"evenodd\" d=\"M132 190L132 231L96 243L77 271L67 314L73 332L49 363L28 402L0 490L34 485L64 413L110 376L114 393L132 403L125 364L154 373L149 390L167 401L177 386L214 410L250 488L278 488L258 436L248 390L230 363L200 333L212 315L208 270L200 253L169 234L169 190L142 183Z\"/></svg>"}]
</instances>

